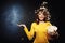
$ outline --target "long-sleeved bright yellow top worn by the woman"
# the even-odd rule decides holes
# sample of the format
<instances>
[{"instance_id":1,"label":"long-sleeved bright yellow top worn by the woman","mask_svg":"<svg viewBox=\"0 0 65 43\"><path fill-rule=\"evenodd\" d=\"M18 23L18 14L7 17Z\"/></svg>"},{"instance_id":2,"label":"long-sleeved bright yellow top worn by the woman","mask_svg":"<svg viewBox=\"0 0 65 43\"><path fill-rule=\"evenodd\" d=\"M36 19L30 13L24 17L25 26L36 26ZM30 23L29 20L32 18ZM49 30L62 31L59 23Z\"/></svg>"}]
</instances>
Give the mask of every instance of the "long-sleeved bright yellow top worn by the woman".
<instances>
[{"instance_id":1,"label":"long-sleeved bright yellow top worn by the woman","mask_svg":"<svg viewBox=\"0 0 65 43\"><path fill-rule=\"evenodd\" d=\"M24 28L24 30L29 40L34 38L34 33L36 32L36 38L34 43L49 43L48 34L47 34L48 26L51 26L50 22L40 23L39 25L36 23L32 23L30 31L28 31L27 27Z\"/></svg>"}]
</instances>

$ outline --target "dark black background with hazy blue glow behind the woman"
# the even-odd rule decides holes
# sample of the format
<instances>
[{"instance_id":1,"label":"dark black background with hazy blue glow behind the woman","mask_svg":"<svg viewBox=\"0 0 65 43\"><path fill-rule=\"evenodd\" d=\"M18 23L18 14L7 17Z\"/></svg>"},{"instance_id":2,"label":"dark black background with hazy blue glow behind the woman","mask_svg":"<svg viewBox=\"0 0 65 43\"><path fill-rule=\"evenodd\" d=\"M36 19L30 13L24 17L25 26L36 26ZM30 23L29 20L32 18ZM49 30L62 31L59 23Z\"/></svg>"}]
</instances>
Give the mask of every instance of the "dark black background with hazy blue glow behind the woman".
<instances>
[{"instance_id":1,"label":"dark black background with hazy blue glow behind the woman","mask_svg":"<svg viewBox=\"0 0 65 43\"><path fill-rule=\"evenodd\" d=\"M43 0L0 0L0 43L31 43L26 33L17 27L25 24L30 30L35 20L35 10ZM51 23L58 27L60 38L55 43L65 42L65 16L63 0L44 0L51 13Z\"/></svg>"}]
</instances>

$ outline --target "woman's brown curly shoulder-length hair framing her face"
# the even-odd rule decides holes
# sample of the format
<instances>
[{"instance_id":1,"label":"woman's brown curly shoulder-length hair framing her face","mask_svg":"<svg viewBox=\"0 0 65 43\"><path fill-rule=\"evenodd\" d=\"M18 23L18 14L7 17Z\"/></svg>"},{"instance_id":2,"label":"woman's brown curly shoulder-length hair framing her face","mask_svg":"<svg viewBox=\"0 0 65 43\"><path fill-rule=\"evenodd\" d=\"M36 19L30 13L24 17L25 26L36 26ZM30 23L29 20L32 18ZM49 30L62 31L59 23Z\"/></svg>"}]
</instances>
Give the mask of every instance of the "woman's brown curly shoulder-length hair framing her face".
<instances>
[{"instance_id":1,"label":"woman's brown curly shoulder-length hair framing her face","mask_svg":"<svg viewBox=\"0 0 65 43\"><path fill-rule=\"evenodd\" d=\"M49 22L50 18L51 18L51 15L50 15L50 12L48 11L47 8L40 8L38 10L35 11L35 14L36 14L36 23L39 24L39 17L38 17L38 13L39 12L43 12L43 15L46 16L43 22Z\"/></svg>"}]
</instances>

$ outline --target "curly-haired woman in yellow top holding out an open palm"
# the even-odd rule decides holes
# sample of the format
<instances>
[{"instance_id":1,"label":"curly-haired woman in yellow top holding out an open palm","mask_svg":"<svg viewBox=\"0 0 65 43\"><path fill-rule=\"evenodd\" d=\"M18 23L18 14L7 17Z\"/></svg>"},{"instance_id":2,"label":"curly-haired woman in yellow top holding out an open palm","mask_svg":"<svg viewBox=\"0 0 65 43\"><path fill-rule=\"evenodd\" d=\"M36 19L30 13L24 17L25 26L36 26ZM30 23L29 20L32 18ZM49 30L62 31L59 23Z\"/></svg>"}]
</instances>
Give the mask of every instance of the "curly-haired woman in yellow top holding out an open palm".
<instances>
[{"instance_id":1,"label":"curly-haired woman in yellow top holding out an open palm","mask_svg":"<svg viewBox=\"0 0 65 43\"><path fill-rule=\"evenodd\" d=\"M24 31L26 32L29 40L34 38L34 34L36 32L36 38L34 43L49 43L49 40L51 40L51 37L56 35L57 31L53 31L51 33L48 33L48 27L52 26L50 20L50 13L47 8L40 8L36 12L36 22L31 24L30 31L28 31L26 25L22 24L18 25L20 27L24 27Z\"/></svg>"}]
</instances>

